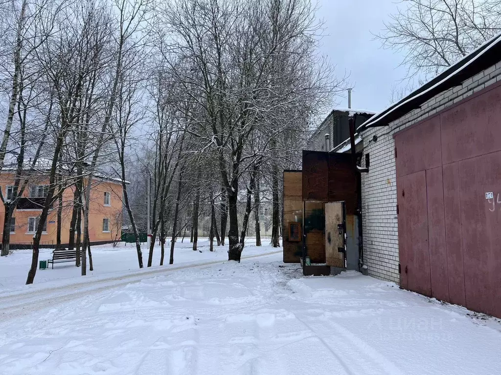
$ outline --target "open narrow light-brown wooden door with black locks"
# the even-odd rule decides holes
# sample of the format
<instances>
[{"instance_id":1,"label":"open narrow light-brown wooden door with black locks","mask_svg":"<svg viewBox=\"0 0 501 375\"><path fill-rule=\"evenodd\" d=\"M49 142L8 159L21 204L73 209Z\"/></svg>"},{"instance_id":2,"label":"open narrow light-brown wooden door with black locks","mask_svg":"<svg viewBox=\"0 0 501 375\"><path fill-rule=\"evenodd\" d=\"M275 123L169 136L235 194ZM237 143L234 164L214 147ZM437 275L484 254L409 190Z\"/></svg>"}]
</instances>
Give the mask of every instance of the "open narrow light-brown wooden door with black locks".
<instances>
[{"instance_id":1,"label":"open narrow light-brown wooden door with black locks","mask_svg":"<svg viewBox=\"0 0 501 375\"><path fill-rule=\"evenodd\" d=\"M327 265L333 267L345 267L343 223L343 202L325 203L325 258Z\"/></svg>"}]
</instances>

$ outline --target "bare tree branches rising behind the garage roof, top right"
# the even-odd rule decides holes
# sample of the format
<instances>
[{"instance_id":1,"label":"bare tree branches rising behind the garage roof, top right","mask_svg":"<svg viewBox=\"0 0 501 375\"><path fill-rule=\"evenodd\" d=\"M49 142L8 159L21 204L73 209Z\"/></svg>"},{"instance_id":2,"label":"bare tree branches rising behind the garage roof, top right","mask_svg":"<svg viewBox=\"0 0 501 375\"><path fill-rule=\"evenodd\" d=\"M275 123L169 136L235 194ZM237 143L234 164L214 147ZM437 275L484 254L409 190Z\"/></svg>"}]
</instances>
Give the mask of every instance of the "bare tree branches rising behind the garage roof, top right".
<instances>
[{"instance_id":1,"label":"bare tree branches rising behind the garage roof, top right","mask_svg":"<svg viewBox=\"0 0 501 375\"><path fill-rule=\"evenodd\" d=\"M375 36L403 52L409 76L436 75L501 31L501 3L491 0L403 0Z\"/></svg>"}]
</instances>

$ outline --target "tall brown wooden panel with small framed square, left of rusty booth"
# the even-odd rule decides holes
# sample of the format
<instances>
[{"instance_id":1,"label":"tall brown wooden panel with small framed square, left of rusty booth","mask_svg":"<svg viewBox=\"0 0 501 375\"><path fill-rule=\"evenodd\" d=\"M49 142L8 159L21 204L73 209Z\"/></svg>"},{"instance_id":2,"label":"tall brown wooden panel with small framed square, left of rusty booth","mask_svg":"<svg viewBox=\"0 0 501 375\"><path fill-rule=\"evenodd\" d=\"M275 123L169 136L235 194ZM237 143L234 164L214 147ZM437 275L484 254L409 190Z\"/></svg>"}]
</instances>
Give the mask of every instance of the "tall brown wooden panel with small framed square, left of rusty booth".
<instances>
[{"instance_id":1,"label":"tall brown wooden panel with small framed square, left of rusty booth","mask_svg":"<svg viewBox=\"0 0 501 375\"><path fill-rule=\"evenodd\" d=\"M303 173L301 170L284 171L284 217L282 233L284 245L284 262L299 263L303 254L303 241L289 241L289 223L297 221L303 226Z\"/></svg>"}]
</instances>

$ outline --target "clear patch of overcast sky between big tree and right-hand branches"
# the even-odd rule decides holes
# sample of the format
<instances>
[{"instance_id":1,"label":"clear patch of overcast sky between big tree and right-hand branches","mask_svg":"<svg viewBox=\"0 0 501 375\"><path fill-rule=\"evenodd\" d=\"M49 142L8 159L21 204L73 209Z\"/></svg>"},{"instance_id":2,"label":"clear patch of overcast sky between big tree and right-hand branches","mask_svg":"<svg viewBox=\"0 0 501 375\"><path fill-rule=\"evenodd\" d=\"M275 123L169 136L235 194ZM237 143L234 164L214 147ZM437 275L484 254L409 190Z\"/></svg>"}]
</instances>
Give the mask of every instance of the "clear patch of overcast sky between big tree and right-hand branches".
<instances>
[{"instance_id":1,"label":"clear patch of overcast sky between big tree and right-hand branches","mask_svg":"<svg viewBox=\"0 0 501 375\"><path fill-rule=\"evenodd\" d=\"M399 67L402 57L382 49L372 40L394 13L395 0L318 0L319 16L325 21L322 52L336 65L338 75L350 73L354 86L352 107L380 111L390 104L391 88L405 77ZM347 98L338 98L339 106L347 107Z\"/></svg>"}]
</instances>

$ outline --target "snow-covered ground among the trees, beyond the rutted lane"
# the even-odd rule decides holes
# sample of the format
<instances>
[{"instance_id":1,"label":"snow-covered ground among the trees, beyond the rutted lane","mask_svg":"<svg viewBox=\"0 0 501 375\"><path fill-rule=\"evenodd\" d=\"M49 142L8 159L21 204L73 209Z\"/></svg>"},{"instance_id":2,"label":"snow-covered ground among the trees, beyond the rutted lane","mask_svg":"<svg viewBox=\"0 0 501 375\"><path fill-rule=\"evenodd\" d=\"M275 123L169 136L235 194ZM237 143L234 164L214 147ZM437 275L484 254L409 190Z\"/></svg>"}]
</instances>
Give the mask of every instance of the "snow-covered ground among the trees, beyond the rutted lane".
<instances>
[{"instance_id":1,"label":"snow-covered ground among the trees, beyond the rutted lane","mask_svg":"<svg viewBox=\"0 0 501 375\"><path fill-rule=\"evenodd\" d=\"M269 238L263 239L263 244L265 244L265 246L257 247L254 246L256 244L255 238L247 238L243 256L276 251L277 249L266 246L269 242ZM189 242L189 238L188 240L185 239L183 242L178 240L174 249L174 264L169 265L170 242L167 241L165 244L163 267L172 267L200 261L225 260L228 258L227 246L214 246L214 251L209 251L208 238L199 238L197 242L197 249L199 251L193 251L192 245L193 244ZM143 251L144 267L146 267L148 262L148 249L146 248L146 243L143 243L141 248ZM40 249L39 259L50 259L52 257L52 250L53 249L48 248ZM87 270L88 276L100 277L104 275L110 276L110 274L129 274L131 270L135 271L139 269L134 243L120 242L116 247L113 247L111 244L92 246L91 251L94 270ZM14 250L9 256L0 258L0 294L6 290L12 291L26 288L25 283L31 264L31 257L31 250ZM153 249L153 267L148 268L148 270L158 270L159 264L160 246L157 243ZM146 269L143 271L145 270ZM52 264L49 264L48 269L37 270L35 283L32 287L36 288L40 282L52 280L73 279L82 281L80 277L81 269L75 267L72 262L56 263L54 264L54 269L52 269ZM60 285L60 283L53 283L53 285Z\"/></svg>"}]
</instances>

